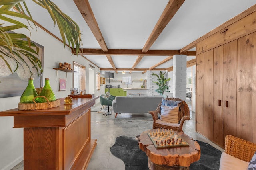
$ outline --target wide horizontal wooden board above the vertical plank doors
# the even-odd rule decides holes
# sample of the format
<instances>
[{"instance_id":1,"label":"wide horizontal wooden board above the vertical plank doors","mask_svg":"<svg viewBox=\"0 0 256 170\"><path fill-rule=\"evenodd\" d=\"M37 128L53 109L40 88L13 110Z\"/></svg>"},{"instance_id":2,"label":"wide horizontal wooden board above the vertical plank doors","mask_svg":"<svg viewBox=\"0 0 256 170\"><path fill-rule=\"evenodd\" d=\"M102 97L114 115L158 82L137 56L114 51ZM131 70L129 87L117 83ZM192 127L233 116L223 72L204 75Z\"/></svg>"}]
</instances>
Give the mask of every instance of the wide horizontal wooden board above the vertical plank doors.
<instances>
[{"instance_id":1,"label":"wide horizontal wooden board above the vertical plank doors","mask_svg":"<svg viewBox=\"0 0 256 170\"><path fill-rule=\"evenodd\" d=\"M227 26L222 31L217 32L197 44L196 53L203 53L209 49L213 49L224 43L231 42L242 36L248 35L256 31L256 12L236 21ZM209 41L210 40L210 41Z\"/></svg>"}]
</instances>

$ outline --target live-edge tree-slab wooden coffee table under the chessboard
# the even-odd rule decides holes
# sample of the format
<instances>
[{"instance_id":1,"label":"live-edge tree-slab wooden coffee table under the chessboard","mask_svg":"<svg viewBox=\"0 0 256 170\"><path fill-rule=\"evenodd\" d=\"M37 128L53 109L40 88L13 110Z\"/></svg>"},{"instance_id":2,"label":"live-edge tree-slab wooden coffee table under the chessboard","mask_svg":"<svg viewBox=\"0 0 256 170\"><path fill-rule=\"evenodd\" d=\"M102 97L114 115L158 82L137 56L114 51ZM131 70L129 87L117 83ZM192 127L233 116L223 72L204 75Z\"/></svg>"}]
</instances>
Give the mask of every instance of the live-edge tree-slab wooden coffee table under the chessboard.
<instances>
[{"instance_id":1,"label":"live-edge tree-slab wooden coffee table under the chessboard","mask_svg":"<svg viewBox=\"0 0 256 170\"><path fill-rule=\"evenodd\" d=\"M200 159L199 144L183 132L174 131L189 146L156 149L148 136L148 133L155 131L158 129L144 131L139 137L139 147L148 156L148 168L150 170L189 170L190 164Z\"/></svg>"}]
</instances>

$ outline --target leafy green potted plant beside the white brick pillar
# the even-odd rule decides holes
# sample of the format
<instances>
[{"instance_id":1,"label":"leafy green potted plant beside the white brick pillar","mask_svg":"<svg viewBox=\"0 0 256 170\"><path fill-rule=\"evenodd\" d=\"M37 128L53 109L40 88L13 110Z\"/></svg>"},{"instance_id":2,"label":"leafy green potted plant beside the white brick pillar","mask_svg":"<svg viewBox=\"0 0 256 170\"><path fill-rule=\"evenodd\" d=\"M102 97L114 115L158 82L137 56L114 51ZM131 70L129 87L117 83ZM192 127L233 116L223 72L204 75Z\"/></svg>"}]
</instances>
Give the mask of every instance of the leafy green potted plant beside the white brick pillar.
<instances>
[{"instance_id":1,"label":"leafy green potted plant beside the white brick pillar","mask_svg":"<svg viewBox=\"0 0 256 170\"><path fill-rule=\"evenodd\" d=\"M165 74L166 72L164 72ZM168 90L169 87L167 86L167 82L171 80L171 78L165 78L164 74L162 73L162 71L160 71L159 75L152 73L152 76L156 76L158 82L152 81L153 83L156 83L156 85L158 85L158 89L156 89L155 91L158 92L160 95L164 94L165 90Z\"/></svg>"}]
</instances>

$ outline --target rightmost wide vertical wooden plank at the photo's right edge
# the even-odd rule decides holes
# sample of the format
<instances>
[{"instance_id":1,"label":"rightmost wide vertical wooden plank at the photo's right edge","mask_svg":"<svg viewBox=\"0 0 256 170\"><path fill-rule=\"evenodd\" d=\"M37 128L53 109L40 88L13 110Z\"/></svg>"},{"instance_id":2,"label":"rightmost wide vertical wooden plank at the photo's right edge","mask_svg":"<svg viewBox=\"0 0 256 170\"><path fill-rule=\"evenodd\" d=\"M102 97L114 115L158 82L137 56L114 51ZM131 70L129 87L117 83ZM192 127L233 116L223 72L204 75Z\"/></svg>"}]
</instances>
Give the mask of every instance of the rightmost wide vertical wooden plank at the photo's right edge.
<instances>
[{"instance_id":1,"label":"rightmost wide vertical wooden plank at the photo's right edge","mask_svg":"<svg viewBox=\"0 0 256 170\"><path fill-rule=\"evenodd\" d=\"M256 143L256 33L238 39L237 136Z\"/></svg>"}]
</instances>

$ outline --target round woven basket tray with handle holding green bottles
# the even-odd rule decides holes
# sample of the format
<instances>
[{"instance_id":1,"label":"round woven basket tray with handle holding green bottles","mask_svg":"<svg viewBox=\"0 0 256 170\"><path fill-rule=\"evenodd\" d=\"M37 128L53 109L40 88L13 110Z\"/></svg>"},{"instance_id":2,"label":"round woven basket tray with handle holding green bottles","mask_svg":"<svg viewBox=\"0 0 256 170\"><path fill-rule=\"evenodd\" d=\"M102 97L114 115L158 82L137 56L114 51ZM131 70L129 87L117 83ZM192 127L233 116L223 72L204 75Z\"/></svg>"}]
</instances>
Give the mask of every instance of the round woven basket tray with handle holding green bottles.
<instances>
[{"instance_id":1,"label":"round woven basket tray with handle holding green bottles","mask_svg":"<svg viewBox=\"0 0 256 170\"><path fill-rule=\"evenodd\" d=\"M38 97L45 98L47 102L44 103L36 103L35 99ZM55 101L49 102L49 100L45 96L36 96L33 99L34 103L19 103L18 110L41 110L41 109L50 109L53 107L60 106L60 100L56 99Z\"/></svg>"}]
</instances>

